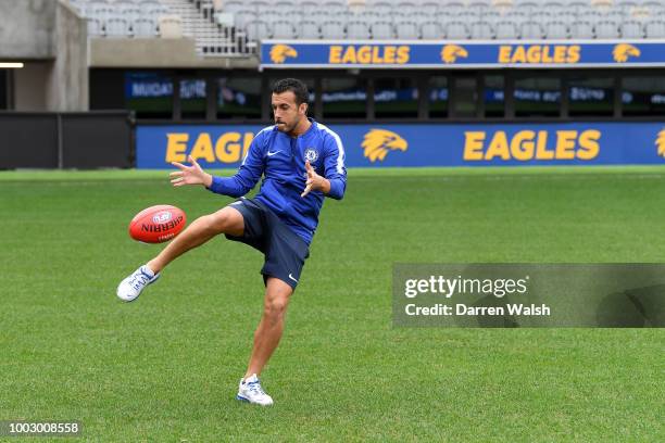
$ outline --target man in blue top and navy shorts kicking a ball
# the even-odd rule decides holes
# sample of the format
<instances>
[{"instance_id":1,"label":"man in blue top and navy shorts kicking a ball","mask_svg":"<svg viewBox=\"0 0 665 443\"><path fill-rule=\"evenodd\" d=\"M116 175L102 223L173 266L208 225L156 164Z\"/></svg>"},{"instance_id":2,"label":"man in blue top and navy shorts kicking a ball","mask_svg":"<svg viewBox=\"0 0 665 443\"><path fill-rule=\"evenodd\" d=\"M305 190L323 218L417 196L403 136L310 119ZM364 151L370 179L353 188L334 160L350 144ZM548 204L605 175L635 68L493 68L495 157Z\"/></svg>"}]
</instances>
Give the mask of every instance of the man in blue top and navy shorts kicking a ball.
<instances>
[{"instance_id":1,"label":"man in blue top and navy shorts kicking a ball","mask_svg":"<svg viewBox=\"0 0 665 443\"><path fill-rule=\"evenodd\" d=\"M136 300L166 265L219 233L263 252L264 311L237 398L264 406L272 405L273 398L261 388L259 376L281 338L286 308L309 256L324 198L340 200L347 187L341 140L308 118L308 99L302 81L287 78L275 83L275 125L256 134L233 177L213 177L191 156L191 166L174 162L179 170L171 173L171 182L176 187L203 185L212 192L238 198L254 188L262 176L263 182L253 199L241 198L197 218L117 287L117 296L123 301Z\"/></svg>"}]
</instances>

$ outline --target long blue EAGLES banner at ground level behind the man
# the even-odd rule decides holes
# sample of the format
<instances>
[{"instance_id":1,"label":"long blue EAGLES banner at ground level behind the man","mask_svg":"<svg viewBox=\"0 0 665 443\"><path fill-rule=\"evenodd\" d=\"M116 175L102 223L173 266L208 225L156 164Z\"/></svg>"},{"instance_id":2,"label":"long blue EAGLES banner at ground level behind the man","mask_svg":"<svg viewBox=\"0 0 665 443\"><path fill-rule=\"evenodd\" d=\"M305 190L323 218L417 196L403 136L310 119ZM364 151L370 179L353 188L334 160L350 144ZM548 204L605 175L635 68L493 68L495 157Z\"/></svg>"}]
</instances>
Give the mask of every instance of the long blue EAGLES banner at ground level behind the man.
<instances>
[{"instance_id":1,"label":"long blue EAGLES banner at ground level behind the man","mask_svg":"<svg viewBox=\"0 0 665 443\"><path fill-rule=\"evenodd\" d=\"M350 167L665 164L665 123L331 125ZM238 167L258 125L137 129L137 167ZM308 157L315 152L305 151Z\"/></svg>"}]
</instances>

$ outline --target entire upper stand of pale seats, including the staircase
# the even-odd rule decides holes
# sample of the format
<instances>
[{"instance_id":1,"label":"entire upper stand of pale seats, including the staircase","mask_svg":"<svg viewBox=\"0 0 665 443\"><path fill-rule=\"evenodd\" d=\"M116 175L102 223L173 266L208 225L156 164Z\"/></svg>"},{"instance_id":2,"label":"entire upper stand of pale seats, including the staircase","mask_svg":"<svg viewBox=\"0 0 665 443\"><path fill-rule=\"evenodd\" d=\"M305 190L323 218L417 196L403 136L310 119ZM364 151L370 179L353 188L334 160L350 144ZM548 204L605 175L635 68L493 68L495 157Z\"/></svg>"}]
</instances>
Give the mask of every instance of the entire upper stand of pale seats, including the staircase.
<instances>
[{"instance_id":1,"label":"entire upper stand of pale seats, including the staircase","mask_svg":"<svg viewBox=\"0 0 665 443\"><path fill-rule=\"evenodd\" d=\"M70 1L88 18L91 36L183 35L196 39L200 54L213 56L248 55L271 38L665 38L665 2L655 0Z\"/></svg>"}]
</instances>

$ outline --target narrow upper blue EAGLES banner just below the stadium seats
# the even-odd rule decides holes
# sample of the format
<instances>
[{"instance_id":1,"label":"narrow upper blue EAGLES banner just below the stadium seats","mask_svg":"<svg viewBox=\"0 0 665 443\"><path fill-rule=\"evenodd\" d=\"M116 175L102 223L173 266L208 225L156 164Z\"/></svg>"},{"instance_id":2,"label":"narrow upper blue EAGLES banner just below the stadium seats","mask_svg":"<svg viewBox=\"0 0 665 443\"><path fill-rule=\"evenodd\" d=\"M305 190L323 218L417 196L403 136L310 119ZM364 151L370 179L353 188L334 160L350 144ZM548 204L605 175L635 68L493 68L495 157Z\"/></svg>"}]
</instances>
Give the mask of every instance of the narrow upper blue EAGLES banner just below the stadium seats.
<instances>
[{"instance_id":1,"label":"narrow upper blue EAGLES banner just below the stadium seats","mask_svg":"<svg viewBox=\"0 0 665 443\"><path fill-rule=\"evenodd\" d=\"M664 41L265 40L261 68L665 66Z\"/></svg>"}]
</instances>

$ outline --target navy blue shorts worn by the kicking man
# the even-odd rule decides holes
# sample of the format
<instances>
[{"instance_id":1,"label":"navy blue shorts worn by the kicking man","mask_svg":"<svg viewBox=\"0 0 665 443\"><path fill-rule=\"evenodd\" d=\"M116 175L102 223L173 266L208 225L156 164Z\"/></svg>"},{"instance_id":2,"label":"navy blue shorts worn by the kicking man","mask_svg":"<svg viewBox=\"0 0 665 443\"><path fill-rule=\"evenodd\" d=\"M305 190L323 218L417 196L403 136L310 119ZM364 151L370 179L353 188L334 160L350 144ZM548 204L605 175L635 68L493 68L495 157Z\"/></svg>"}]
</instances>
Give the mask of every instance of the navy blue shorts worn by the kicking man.
<instances>
[{"instance_id":1,"label":"navy blue shorts worn by the kicking man","mask_svg":"<svg viewBox=\"0 0 665 443\"><path fill-rule=\"evenodd\" d=\"M308 243L289 229L277 215L264 204L251 199L240 199L230 204L244 219L242 237L226 235L263 252L265 263L261 269L263 282L275 277L296 289L305 258L310 256Z\"/></svg>"}]
</instances>

